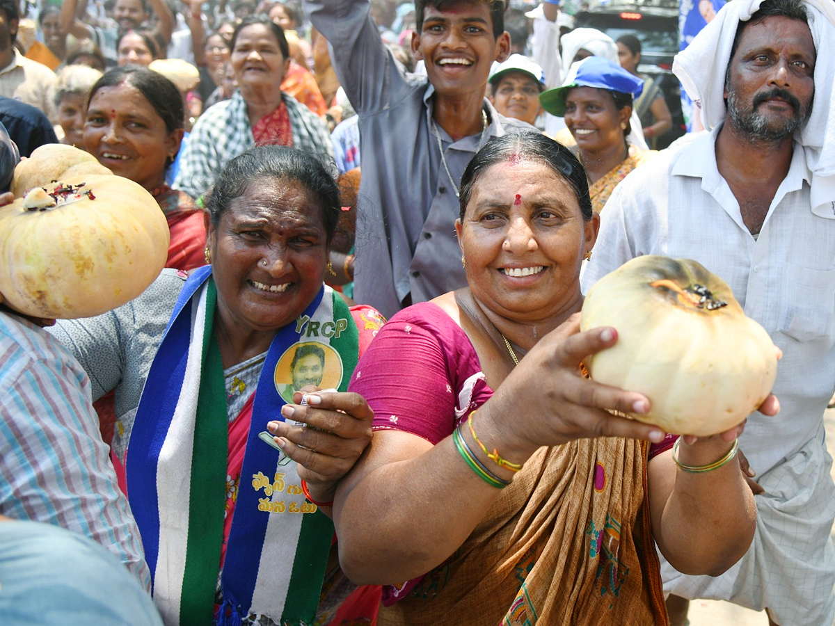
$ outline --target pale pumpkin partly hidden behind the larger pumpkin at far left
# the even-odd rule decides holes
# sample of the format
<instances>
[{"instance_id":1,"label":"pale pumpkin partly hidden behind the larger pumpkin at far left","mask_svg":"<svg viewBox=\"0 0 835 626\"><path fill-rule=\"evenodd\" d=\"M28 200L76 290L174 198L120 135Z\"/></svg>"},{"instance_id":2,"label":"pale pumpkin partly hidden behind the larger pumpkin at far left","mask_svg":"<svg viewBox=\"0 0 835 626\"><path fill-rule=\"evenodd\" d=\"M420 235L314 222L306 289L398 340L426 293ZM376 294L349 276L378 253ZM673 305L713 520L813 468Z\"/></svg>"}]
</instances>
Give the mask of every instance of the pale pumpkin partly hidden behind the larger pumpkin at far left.
<instances>
[{"instance_id":1,"label":"pale pumpkin partly hidden behind the larger pumpkin at far left","mask_svg":"<svg viewBox=\"0 0 835 626\"><path fill-rule=\"evenodd\" d=\"M30 189L82 174L104 175L113 172L89 152L71 145L46 144L34 149L28 159L21 159L14 169L10 190L15 198L23 198Z\"/></svg>"}]
</instances>

